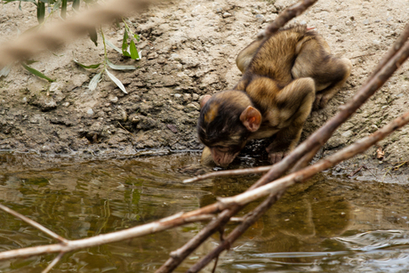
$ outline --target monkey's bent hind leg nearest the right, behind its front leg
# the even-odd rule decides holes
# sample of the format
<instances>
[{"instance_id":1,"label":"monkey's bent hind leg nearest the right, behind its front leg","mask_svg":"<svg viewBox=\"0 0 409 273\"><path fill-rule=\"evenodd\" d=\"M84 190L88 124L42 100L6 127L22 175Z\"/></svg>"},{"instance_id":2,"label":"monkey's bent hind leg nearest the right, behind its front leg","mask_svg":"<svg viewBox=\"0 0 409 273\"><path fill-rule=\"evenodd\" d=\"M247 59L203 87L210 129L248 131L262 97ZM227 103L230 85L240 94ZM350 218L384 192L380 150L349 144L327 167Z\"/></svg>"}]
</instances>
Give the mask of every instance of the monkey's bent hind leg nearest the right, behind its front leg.
<instances>
[{"instance_id":1,"label":"monkey's bent hind leg nearest the right, behind its front leg","mask_svg":"<svg viewBox=\"0 0 409 273\"><path fill-rule=\"evenodd\" d=\"M294 78L312 77L316 84L314 108L324 108L328 100L340 91L349 77L352 64L346 58L335 58L330 54L328 44L321 37L309 39L298 45L299 54L294 61Z\"/></svg>"}]
</instances>

